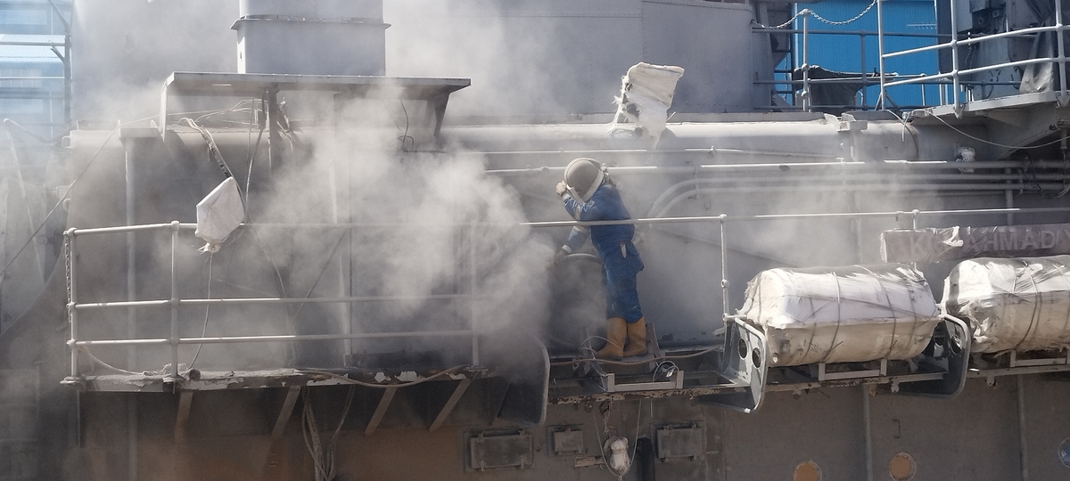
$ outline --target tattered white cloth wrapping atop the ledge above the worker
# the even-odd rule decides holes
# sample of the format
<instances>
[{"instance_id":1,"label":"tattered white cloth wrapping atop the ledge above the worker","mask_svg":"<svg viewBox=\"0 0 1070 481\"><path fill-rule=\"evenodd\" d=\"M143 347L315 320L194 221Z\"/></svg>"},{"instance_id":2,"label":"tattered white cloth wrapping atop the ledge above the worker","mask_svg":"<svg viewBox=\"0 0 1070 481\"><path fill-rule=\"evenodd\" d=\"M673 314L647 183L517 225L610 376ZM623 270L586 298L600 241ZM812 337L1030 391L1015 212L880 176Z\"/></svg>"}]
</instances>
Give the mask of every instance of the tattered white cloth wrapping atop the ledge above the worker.
<instances>
[{"instance_id":1,"label":"tattered white cloth wrapping atop the ledge above the worker","mask_svg":"<svg viewBox=\"0 0 1070 481\"><path fill-rule=\"evenodd\" d=\"M675 65L651 65L640 62L628 68L621 80L621 96L616 98L617 122L627 119L643 128L643 134L658 138L666 129L669 106L676 93L676 81L684 75L684 68ZM623 119L622 119L623 118Z\"/></svg>"}]
</instances>

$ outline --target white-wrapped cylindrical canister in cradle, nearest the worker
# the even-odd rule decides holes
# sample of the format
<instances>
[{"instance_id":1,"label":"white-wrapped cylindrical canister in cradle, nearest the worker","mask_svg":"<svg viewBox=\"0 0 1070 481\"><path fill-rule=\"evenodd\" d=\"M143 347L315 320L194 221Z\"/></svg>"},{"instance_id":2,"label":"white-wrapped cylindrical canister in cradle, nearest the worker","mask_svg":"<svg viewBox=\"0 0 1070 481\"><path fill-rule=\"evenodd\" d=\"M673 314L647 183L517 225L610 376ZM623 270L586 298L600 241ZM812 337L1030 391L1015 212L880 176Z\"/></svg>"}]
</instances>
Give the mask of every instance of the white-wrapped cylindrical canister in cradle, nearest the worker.
<instances>
[{"instance_id":1,"label":"white-wrapped cylindrical canister in cradle, nearest the worker","mask_svg":"<svg viewBox=\"0 0 1070 481\"><path fill-rule=\"evenodd\" d=\"M770 366L910 359L939 322L929 283L905 264L763 270L739 314L765 328Z\"/></svg>"}]
</instances>

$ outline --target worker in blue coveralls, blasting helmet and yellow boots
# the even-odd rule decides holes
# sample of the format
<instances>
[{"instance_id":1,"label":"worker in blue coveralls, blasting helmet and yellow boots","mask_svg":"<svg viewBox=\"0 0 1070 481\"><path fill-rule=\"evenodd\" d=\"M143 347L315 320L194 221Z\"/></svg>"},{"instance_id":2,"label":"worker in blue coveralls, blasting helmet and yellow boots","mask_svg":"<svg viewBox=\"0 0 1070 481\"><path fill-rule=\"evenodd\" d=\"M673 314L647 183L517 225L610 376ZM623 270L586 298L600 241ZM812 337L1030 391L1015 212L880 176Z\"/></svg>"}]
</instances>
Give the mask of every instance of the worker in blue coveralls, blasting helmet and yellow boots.
<instances>
[{"instance_id":1,"label":"worker in blue coveralls, blasting helmet and yellow boots","mask_svg":"<svg viewBox=\"0 0 1070 481\"><path fill-rule=\"evenodd\" d=\"M606 168L597 160L578 158L565 168L565 180L556 192L565 211L576 220L626 220L628 210L621 192L610 180ZM602 286L606 291L606 346L595 357L627 357L646 354L646 322L639 307L636 275L643 269L643 260L631 243L636 227L577 226L554 257L554 262L579 249L591 237L602 261Z\"/></svg>"}]
</instances>

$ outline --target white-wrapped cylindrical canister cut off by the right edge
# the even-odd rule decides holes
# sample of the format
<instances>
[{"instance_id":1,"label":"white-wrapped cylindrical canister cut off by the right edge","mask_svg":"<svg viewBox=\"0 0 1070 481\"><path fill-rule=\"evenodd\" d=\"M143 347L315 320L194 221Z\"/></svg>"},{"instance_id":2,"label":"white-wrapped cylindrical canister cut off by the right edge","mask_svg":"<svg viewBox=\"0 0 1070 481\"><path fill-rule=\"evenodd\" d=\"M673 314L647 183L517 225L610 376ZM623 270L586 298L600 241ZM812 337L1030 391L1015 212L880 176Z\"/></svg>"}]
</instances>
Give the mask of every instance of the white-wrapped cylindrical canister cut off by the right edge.
<instances>
[{"instance_id":1,"label":"white-wrapped cylindrical canister cut off by the right edge","mask_svg":"<svg viewBox=\"0 0 1070 481\"><path fill-rule=\"evenodd\" d=\"M1070 255L973 259L951 270L944 308L974 327L975 353L1070 344Z\"/></svg>"}]
</instances>

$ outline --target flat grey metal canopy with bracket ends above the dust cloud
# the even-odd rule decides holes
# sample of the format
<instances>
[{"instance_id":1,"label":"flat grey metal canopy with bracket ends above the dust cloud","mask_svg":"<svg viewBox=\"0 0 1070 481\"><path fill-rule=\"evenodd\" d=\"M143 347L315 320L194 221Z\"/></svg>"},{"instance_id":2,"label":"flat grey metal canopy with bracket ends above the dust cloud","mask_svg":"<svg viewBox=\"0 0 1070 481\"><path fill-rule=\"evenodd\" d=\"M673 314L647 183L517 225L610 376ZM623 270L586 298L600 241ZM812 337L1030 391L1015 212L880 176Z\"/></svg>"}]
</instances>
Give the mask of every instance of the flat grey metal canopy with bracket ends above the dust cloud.
<instances>
[{"instance_id":1,"label":"flat grey metal canopy with bracket ends above the dust cloud","mask_svg":"<svg viewBox=\"0 0 1070 481\"><path fill-rule=\"evenodd\" d=\"M159 128L166 128L171 96L274 98L278 92L309 91L335 92L351 98L427 100L438 137L449 94L471 84L468 78L175 72L164 82Z\"/></svg>"}]
</instances>

